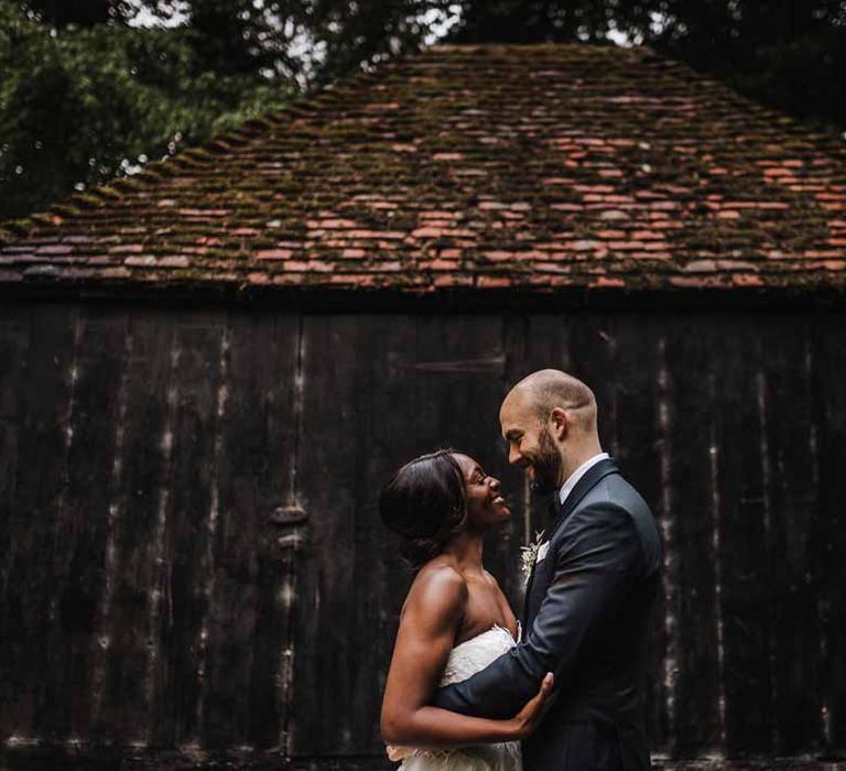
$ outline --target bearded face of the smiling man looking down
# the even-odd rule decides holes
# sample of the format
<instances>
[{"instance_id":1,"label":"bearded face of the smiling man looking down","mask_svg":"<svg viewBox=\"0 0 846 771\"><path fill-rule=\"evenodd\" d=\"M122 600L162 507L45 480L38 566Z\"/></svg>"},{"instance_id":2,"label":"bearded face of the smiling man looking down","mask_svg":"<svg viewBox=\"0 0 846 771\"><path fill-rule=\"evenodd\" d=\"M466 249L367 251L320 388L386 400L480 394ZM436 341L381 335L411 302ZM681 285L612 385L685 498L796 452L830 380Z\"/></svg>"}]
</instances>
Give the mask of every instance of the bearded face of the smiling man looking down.
<instances>
[{"instance_id":1,"label":"bearded face of the smiling man looking down","mask_svg":"<svg viewBox=\"0 0 846 771\"><path fill-rule=\"evenodd\" d=\"M536 492L553 492L561 480L561 455L534 404L509 397L499 413L508 461L522 468Z\"/></svg>"}]
</instances>

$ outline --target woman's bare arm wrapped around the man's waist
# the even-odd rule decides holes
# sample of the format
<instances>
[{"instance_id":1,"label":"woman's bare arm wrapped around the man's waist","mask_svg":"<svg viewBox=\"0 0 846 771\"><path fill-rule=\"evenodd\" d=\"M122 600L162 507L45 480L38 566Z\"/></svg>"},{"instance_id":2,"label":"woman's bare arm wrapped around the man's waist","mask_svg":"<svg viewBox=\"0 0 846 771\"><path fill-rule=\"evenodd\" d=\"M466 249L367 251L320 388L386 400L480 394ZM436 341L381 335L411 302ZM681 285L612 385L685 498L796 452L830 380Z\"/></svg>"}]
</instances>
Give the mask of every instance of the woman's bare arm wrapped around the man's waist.
<instances>
[{"instance_id":1,"label":"woman's bare arm wrapped around the man's waist","mask_svg":"<svg viewBox=\"0 0 846 771\"><path fill-rule=\"evenodd\" d=\"M551 677L517 716L507 720L467 717L429 706L460 623L467 587L451 567L436 567L414 582L400 618L400 630L382 701L382 739L389 745L448 749L511 741L528 736L542 716Z\"/></svg>"}]
</instances>

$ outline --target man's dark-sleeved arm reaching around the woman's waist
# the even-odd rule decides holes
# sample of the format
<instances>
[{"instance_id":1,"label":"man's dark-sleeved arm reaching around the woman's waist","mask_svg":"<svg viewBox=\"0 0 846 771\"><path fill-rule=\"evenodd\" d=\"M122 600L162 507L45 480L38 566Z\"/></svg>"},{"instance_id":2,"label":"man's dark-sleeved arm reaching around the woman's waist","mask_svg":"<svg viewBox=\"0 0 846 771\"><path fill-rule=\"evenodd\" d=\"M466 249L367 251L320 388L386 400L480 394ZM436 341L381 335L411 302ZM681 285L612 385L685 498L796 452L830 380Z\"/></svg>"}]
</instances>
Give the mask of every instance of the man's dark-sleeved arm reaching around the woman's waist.
<instances>
[{"instance_id":1,"label":"man's dark-sleeved arm reaching around the woman's waist","mask_svg":"<svg viewBox=\"0 0 846 771\"><path fill-rule=\"evenodd\" d=\"M640 562L629 513L614 503L573 514L555 557L555 575L523 641L468 680L441 688L435 706L464 715L508 718L536 693L546 672L566 684L592 632L625 591ZM552 555L551 555L552 556Z\"/></svg>"}]
</instances>

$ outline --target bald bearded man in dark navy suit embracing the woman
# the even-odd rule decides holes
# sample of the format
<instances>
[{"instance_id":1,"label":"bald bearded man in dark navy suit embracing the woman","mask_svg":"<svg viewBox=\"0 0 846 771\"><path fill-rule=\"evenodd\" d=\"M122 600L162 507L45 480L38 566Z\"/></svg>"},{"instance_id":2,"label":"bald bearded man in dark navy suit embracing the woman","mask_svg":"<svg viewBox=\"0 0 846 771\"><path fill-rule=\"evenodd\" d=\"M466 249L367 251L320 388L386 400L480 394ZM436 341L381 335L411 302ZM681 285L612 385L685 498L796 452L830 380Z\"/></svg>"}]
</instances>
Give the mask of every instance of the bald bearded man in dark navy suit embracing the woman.
<instances>
[{"instance_id":1,"label":"bald bearded man in dark navy suit embracing the woman","mask_svg":"<svg viewBox=\"0 0 846 771\"><path fill-rule=\"evenodd\" d=\"M499 413L508 460L555 492L523 605L522 641L487 669L441 688L435 705L516 715L555 673L557 699L523 742L524 771L649 769L643 681L661 546L643 499L601 452L596 400L581 380L534 372Z\"/></svg>"}]
</instances>

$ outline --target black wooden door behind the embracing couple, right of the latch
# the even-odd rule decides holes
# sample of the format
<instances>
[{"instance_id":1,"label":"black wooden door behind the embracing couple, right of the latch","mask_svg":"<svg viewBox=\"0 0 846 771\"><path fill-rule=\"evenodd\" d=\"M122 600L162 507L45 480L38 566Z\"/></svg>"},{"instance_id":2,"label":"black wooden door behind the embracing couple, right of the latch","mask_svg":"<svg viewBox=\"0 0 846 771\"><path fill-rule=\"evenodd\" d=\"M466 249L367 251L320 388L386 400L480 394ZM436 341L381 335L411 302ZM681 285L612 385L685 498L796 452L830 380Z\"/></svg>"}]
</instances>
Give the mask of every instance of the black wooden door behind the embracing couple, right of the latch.
<instances>
[{"instance_id":1,"label":"black wooden door behind the embracing couple, right of the latch","mask_svg":"<svg viewBox=\"0 0 846 771\"><path fill-rule=\"evenodd\" d=\"M505 471L496 419L503 325L494 315L307 316L303 340L297 487L311 540L296 611L293 748L314 768L352 768L383 758L379 707L410 580L379 520L379 491L400 464L443 446ZM491 560L516 564L521 534L520 521L503 528Z\"/></svg>"}]
</instances>

